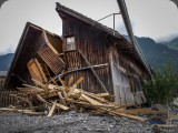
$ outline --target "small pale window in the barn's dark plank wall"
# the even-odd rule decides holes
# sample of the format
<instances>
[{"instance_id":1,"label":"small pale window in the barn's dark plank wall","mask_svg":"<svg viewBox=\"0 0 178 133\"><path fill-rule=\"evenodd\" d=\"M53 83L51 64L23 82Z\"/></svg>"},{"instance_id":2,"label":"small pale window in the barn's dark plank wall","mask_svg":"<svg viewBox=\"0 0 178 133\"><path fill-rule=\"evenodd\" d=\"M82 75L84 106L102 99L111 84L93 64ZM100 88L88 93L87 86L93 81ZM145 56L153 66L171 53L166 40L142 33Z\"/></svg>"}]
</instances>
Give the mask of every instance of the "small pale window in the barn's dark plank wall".
<instances>
[{"instance_id":1,"label":"small pale window in the barn's dark plank wall","mask_svg":"<svg viewBox=\"0 0 178 133\"><path fill-rule=\"evenodd\" d=\"M66 48L67 50L76 50L75 37L68 37L66 39Z\"/></svg>"}]
</instances>

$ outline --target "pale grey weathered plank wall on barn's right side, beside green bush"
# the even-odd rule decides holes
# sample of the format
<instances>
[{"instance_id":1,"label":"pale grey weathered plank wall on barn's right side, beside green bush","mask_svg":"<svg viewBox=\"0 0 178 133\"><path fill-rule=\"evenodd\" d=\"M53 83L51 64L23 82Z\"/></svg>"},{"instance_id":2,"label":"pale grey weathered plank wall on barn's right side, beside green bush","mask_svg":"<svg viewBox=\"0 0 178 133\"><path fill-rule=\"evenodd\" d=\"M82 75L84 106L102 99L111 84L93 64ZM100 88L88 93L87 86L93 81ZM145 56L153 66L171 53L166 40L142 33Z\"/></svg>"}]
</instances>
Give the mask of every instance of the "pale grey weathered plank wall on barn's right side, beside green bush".
<instances>
[{"instance_id":1,"label":"pale grey weathered plank wall on barn's right side, beside green bush","mask_svg":"<svg viewBox=\"0 0 178 133\"><path fill-rule=\"evenodd\" d=\"M120 104L140 104L146 102L140 84L141 70L132 60L125 59L117 49L110 53L110 68L115 101Z\"/></svg>"}]
</instances>

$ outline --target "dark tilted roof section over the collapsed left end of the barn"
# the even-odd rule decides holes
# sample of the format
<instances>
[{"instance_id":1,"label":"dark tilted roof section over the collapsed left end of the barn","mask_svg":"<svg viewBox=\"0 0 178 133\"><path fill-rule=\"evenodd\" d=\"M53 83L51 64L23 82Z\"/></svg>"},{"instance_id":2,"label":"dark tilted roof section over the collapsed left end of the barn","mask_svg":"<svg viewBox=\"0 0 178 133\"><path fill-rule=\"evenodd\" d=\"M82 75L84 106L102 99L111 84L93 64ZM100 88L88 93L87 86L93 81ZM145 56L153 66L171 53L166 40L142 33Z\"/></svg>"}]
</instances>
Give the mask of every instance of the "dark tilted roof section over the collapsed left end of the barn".
<instances>
[{"instance_id":1,"label":"dark tilted roof section over the collapsed left end of the barn","mask_svg":"<svg viewBox=\"0 0 178 133\"><path fill-rule=\"evenodd\" d=\"M55 33L51 33L31 22L27 22L23 29L23 33L20 38L19 44L16 49L14 57L12 59L12 63L7 73L7 79L4 83L6 88L8 88L11 78L14 76L17 72L20 73L20 75L23 74L27 68L26 66L27 61L29 61L29 59L31 59L34 54L37 54L37 49L40 49L41 45L37 44L36 41L38 40L38 38L43 31L47 34L61 39L59 35Z\"/></svg>"}]
</instances>

